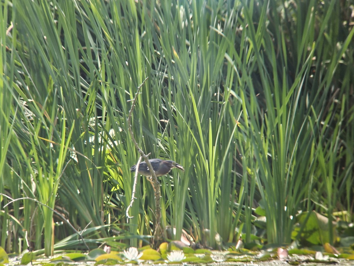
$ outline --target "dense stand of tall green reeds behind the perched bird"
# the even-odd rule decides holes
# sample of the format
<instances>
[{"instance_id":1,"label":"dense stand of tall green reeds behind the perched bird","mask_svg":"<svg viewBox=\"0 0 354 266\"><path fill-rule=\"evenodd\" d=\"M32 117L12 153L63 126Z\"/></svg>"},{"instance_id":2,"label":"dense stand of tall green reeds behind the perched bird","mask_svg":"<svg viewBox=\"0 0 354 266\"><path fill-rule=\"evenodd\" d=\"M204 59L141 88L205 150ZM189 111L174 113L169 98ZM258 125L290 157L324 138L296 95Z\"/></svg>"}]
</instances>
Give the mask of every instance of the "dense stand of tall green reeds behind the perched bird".
<instances>
[{"instance_id":1,"label":"dense stand of tall green reeds behind the perched bird","mask_svg":"<svg viewBox=\"0 0 354 266\"><path fill-rule=\"evenodd\" d=\"M150 158L185 167L161 179L177 239L286 244L316 211L336 242L332 221L354 218L353 8L2 0L0 245L85 249L83 229L90 247L149 243L145 178L125 213L139 156L127 116L146 77L132 127Z\"/></svg>"}]
</instances>

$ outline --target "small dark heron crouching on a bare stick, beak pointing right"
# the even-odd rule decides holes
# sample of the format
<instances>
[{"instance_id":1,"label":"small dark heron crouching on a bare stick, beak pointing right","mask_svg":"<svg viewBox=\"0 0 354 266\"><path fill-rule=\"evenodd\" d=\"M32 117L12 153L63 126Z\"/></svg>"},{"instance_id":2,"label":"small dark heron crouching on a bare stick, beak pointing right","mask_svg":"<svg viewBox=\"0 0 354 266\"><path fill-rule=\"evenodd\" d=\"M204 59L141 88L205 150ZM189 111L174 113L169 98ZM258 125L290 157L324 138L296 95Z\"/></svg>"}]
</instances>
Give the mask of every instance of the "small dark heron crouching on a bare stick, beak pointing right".
<instances>
[{"instance_id":1,"label":"small dark heron crouching on a bare stick, beak pointing right","mask_svg":"<svg viewBox=\"0 0 354 266\"><path fill-rule=\"evenodd\" d=\"M156 177L164 176L165 174L168 174L172 168L178 168L184 171L182 165L179 165L177 164L177 162L171 160L150 159L149 162L155 171ZM131 172L134 172L135 170L136 170L136 165L130 167ZM146 162L141 162L139 164L138 173L142 174L143 176L151 177L151 173L149 171L149 167L146 164Z\"/></svg>"}]
</instances>

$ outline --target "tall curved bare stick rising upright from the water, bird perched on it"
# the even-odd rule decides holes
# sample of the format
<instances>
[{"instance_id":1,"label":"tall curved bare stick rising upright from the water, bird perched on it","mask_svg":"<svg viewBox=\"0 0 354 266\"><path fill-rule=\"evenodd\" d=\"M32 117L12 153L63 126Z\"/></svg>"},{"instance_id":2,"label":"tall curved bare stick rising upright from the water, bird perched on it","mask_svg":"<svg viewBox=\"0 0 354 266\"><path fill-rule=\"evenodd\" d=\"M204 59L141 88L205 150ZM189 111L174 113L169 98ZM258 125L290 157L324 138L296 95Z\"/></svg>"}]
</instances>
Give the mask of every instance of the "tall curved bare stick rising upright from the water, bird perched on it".
<instances>
[{"instance_id":1,"label":"tall curved bare stick rising upright from the water, bird perched on it","mask_svg":"<svg viewBox=\"0 0 354 266\"><path fill-rule=\"evenodd\" d=\"M135 106L135 102L136 102L136 99L138 97L138 94L139 94L139 90L141 89L141 87L143 86L143 84L145 83L145 81L148 79L145 78L143 83L141 83L139 86L138 86L138 90L135 94L135 97L134 99L132 100L132 107L129 111L129 115L128 115L128 130L129 130L129 134L130 134L130 137L132 138L132 141L134 143L134 146L135 148L139 151L141 157L144 158L145 162L147 163L148 167L149 167L149 171L151 173L151 179L149 179L150 183L152 184L152 187L154 189L154 192L155 192L155 205L156 205L156 209L155 209L155 212L156 212L156 223L155 223L155 232L154 232L154 240L153 240L153 246L155 248L157 248L163 241L164 241L164 231L161 227L161 204L160 204L160 196L161 196L161 192L160 192L160 184L159 184L159 181L155 175L155 171L149 161L149 158L148 156L146 156L143 151L139 148L135 138L134 138L134 134L133 134L133 131L132 131L132 126L131 126L131 116L132 116L132 112L134 110L134 106ZM138 165L137 165L138 166ZM136 172L137 172L138 169L136 169ZM133 196L132 196L133 198Z\"/></svg>"}]
</instances>

